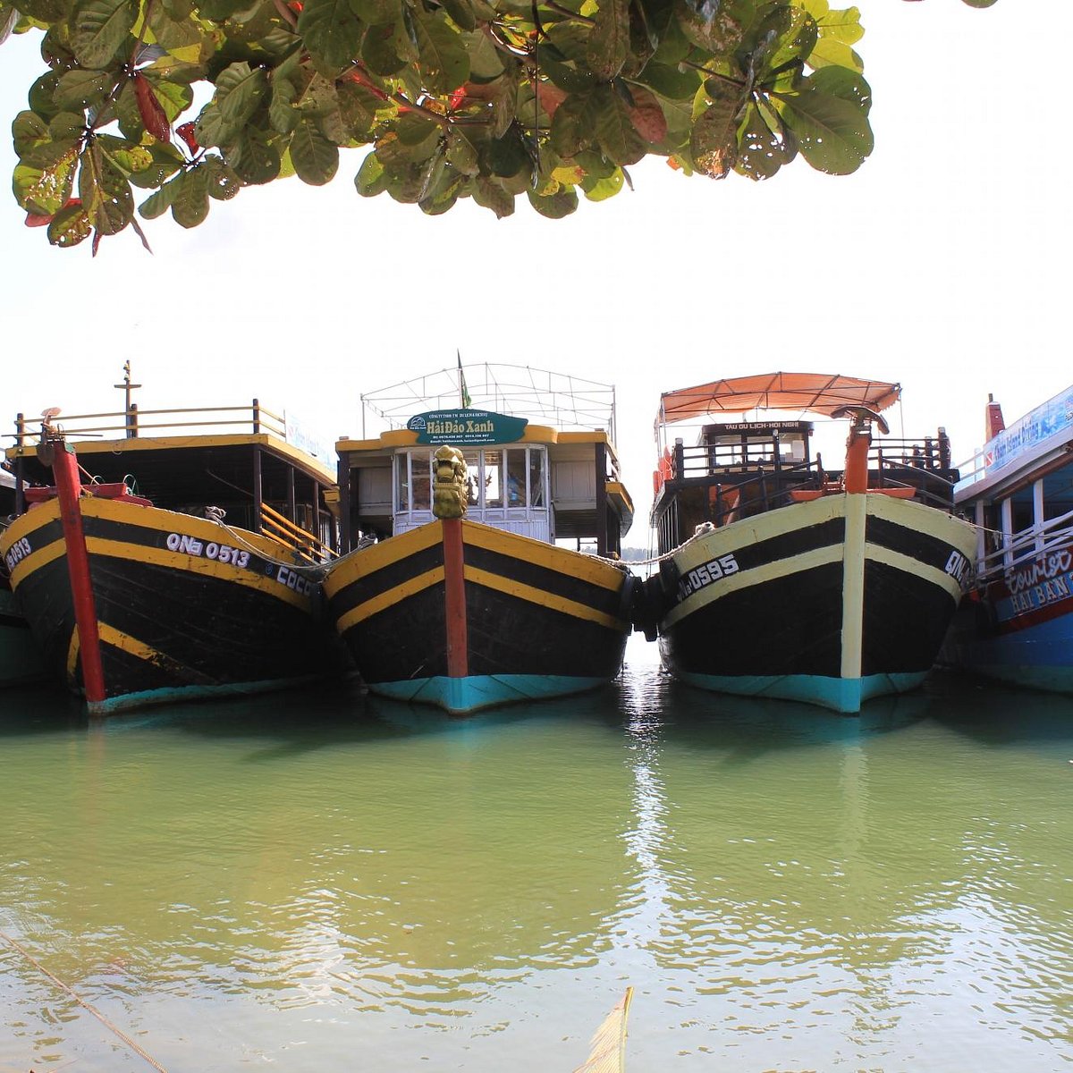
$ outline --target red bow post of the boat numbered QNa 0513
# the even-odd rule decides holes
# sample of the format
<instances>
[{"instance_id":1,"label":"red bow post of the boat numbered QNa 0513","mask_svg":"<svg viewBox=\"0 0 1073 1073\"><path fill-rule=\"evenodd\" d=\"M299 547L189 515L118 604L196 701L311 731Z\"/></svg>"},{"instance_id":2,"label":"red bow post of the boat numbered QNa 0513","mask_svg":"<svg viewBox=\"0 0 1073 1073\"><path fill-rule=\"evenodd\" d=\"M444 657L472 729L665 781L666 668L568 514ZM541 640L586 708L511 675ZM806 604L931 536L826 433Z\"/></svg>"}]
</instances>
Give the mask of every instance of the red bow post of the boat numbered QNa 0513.
<instances>
[{"instance_id":1,"label":"red bow post of the boat numbered QNa 0513","mask_svg":"<svg viewBox=\"0 0 1073 1073\"><path fill-rule=\"evenodd\" d=\"M74 449L60 437L46 441L52 447L50 465L60 502L60 523L67 545L68 575L71 578L71 600L74 604L75 628L78 630L78 658L82 661L82 685L86 701L99 704L105 697L104 668L101 664L101 637L97 628L97 604L89 578L89 553L82 526L82 477Z\"/></svg>"}]
</instances>

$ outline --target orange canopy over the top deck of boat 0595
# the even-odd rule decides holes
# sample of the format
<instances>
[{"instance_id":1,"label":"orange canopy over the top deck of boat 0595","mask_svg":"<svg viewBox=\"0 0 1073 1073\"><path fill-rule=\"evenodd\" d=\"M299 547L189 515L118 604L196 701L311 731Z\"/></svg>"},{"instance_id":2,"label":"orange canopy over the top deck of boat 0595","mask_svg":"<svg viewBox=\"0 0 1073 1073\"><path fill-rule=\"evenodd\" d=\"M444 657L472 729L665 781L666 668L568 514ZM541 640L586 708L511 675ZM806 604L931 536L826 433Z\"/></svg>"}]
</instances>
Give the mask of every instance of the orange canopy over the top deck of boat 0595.
<instances>
[{"instance_id":1,"label":"orange canopy over the top deck of boat 0595","mask_svg":"<svg viewBox=\"0 0 1073 1073\"><path fill-rule=\"evenodd\" d=\"M885 410L898 401L900 384L822 372L767 372L664 392L658 421L689 421L746 410L810 410L831 414L842 406Z\"/></svg>"}]
</instances>

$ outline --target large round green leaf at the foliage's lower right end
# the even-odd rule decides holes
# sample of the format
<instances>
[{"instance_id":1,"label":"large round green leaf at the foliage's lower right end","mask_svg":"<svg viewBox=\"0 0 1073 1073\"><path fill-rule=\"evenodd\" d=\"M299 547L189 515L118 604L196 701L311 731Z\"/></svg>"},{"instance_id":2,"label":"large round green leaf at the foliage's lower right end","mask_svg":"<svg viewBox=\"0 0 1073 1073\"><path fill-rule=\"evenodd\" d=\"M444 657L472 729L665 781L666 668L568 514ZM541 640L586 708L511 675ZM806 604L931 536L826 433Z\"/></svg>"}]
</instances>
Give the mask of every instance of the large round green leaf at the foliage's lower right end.
<instances>
[{"instance_id":1,"label":"large round green leaf at the foliage's lower right end","mask_svg":"<svg viewBox=\"0 0 1073 1073\"><path fill-rule=\"evenodd\" d=\"M852 71L821 68L803 79L800 92L776 100L802 156L817 171L850 175L871 152L871 90Z\"/></svg>"}]
</instances>

